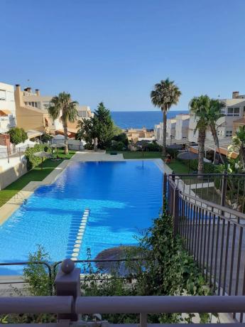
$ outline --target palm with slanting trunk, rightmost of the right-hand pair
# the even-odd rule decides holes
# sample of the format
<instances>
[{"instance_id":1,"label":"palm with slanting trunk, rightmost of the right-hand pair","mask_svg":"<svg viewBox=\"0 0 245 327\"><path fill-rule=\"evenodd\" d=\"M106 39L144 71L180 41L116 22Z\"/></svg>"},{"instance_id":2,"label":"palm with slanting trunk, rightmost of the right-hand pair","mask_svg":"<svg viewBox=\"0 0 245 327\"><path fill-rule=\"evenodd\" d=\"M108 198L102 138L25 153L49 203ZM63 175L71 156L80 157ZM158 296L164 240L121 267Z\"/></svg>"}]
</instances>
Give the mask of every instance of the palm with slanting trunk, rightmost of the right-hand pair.
<instances>
[{"instance_id":1,"label":"palm with slanting trunk, rightmost of the right-hand pair","mask_svg":"<svg viewBox=\"0 0 245 327\"><path fill-rule=\"evenodd\" d=\"M225 104L224 102L221 102L216 99L209 100L209 109L207 112L208 120L209 120L209 128L212 133L212 137L214 139L214 144L219 152L219 158L222 161L222 164L224 164L224 159L222 155L220 154L219 150L219 138L217 134L217 120L221 117L224 117L225 115L222 114L222 108L224 108Z\"/></svg>"}]
</instances>

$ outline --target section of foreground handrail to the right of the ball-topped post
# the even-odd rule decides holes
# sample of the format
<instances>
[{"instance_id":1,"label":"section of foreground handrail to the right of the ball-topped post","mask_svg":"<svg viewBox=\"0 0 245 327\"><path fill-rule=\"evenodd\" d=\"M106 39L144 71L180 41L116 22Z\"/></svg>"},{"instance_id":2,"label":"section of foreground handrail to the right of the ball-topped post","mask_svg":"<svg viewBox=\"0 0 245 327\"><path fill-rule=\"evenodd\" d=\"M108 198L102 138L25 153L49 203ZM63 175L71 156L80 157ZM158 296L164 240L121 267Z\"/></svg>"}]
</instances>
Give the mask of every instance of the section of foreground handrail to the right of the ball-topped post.
<instances>
[{"instance_id":1,"label":"section of foreground handrail to the right of the ball-topped post","mask_svg":"<svg viewBox=\"0 0 245 327\"><path fill-rule=\"evenodd\" d=\"M245 296L80 296L76 313L242 312Z\"/></svg>"}]
</instances>

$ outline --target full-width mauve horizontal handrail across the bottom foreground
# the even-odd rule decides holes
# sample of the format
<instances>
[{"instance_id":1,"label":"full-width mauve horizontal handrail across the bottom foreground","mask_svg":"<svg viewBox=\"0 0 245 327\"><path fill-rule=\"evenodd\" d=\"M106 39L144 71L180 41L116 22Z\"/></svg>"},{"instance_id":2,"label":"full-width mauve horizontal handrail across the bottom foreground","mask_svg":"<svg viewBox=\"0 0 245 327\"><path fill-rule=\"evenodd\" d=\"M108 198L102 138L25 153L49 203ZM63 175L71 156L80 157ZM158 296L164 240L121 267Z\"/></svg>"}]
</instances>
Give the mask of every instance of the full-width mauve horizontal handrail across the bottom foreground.
<instances>
[{"instance_id":1,"label":"full-width mauve horizontal handrail across the bottom foreground","mask_svg":"<svg viewBox=\"0 0 245 327\"><path fill-rule=\"evenodd\" d=\"M0 297L0 313L232 313L245 296L21 296Z\"/></svg>"}]
</instances>

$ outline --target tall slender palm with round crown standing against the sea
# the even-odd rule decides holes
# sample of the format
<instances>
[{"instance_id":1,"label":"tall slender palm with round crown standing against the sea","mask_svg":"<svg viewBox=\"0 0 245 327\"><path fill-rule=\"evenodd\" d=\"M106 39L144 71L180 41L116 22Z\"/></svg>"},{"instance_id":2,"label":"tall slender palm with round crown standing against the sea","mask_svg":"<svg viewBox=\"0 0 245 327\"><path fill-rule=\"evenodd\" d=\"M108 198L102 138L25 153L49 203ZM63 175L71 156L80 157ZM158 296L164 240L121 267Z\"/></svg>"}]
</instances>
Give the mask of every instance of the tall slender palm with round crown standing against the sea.
<instances>
[{"instance_id":1,"label":"tall slender palm with round crown standing against the sea","mask_svg":"<svg viewBox=\"0 0 245 327\"><path fill-rule=\"evenodd\" d=\"M163 112L163 158L166 156L167 112L173 104L177 104L181 92L173 80L161 80L151 91L151 102Z\"/></svg>"}]
</instances>

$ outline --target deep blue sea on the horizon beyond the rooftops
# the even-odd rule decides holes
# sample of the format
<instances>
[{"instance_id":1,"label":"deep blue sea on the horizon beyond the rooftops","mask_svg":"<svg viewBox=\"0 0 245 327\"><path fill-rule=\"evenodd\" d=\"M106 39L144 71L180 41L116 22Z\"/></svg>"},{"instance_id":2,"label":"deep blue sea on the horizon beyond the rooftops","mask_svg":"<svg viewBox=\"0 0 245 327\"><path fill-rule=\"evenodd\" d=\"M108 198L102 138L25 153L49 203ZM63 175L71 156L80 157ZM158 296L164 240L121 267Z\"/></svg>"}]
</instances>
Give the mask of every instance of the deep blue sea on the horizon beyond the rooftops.
<instances>
[{"instance_id":1,"label":"deep blue sea on the horizon beyond the rooftops","mask_svg":"<svg viewBox=\"0 0 245 327\"><path fill-rule=\"evenodd\" d=\"M167 117L173 118L176 114L187 114L185 110L169 111ZM132 112L111 112L111 117L114 120L116 126L121 129L129 128L143 128L153 129L154 125L163 121L163 114L159 111L132 111Z\"/></svg>"}]
</instances>

